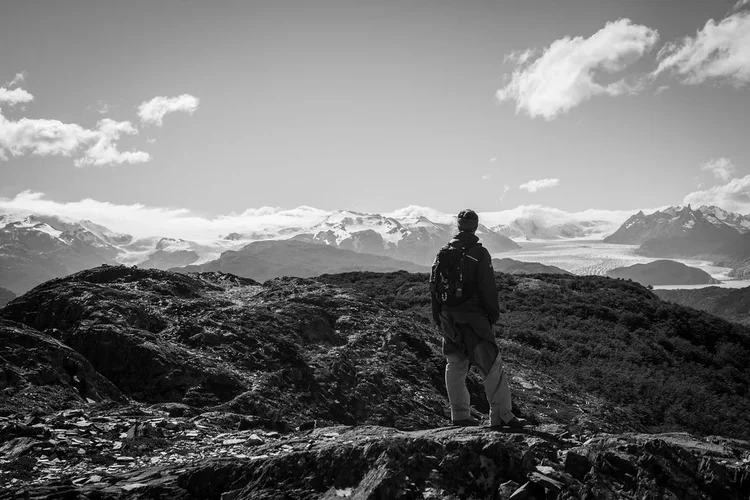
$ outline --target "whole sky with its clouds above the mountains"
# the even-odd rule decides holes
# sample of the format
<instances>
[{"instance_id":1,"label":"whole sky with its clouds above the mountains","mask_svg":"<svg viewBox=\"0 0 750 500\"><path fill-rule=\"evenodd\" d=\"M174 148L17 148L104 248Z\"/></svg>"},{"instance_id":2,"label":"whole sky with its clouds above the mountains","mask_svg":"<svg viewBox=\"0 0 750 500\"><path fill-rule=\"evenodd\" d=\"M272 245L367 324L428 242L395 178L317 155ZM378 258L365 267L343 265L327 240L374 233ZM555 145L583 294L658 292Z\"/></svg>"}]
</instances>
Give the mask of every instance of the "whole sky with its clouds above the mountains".
<instances>
[{"instance_id":1,"label":"whole sky with its clouds above the mountains","mask_svg":"<svg viewBox=\"0 0 750 500\"><path fill-rule=\"evenodd\" d=\"M750 0L0 4L0 211L749 213L749 124Z\"/></svg>"}]
</instances>

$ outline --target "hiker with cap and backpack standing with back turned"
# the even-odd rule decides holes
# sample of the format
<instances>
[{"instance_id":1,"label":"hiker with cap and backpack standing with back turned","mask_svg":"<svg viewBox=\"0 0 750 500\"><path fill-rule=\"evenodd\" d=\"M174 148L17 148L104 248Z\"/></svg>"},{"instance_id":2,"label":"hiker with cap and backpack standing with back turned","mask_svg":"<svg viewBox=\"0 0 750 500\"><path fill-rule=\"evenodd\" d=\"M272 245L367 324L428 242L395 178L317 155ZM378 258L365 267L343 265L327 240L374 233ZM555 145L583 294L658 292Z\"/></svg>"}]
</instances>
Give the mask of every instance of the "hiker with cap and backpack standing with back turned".
<instances>
[{"instance_id":1,"label":"hiker with cap and backpack standing with back turned","mask_svg":"<svg viewBox=\"0 0 750 500\"><path fill-rule=\"evenodd\" d=\"M453 425L475 426L466 375L469 363L482 373L490 403L490 425L520 428L525 420L511 411L510 387L493 325L500 317L492 258L474 234L479 216L458 214L458 234L438 252L430 273L432 317L443 334L445 388Z\"/></svg>"}]
</instances>

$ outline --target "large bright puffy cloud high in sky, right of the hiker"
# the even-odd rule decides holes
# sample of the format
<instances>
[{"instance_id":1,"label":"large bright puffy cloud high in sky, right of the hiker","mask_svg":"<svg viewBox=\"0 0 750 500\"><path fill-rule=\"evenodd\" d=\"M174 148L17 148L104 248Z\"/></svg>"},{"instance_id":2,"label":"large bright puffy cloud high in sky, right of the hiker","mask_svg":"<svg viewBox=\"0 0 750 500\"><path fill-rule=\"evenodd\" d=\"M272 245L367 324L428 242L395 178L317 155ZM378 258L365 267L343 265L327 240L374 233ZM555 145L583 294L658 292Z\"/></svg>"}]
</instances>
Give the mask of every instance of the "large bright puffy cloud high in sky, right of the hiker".
<instances>
[{"instance_id":1,"label":"large bright puffy cloud high in sky, right of the hiker","mask_svg":"<svg viewBox=\"0 0 750 500\"><path fill-rule=\"evenodd\" d=\"M552 120L558 114L597 95L617 96L643 89L641 79L621 78L604 85L597 74L625 70L649 52L659 34L629 19L607 23L589 38L564 37L554 41L535 60L527 51L506 56L516 63L498 100L516 101L516 112Z\"/></svg>"}]
</instances>

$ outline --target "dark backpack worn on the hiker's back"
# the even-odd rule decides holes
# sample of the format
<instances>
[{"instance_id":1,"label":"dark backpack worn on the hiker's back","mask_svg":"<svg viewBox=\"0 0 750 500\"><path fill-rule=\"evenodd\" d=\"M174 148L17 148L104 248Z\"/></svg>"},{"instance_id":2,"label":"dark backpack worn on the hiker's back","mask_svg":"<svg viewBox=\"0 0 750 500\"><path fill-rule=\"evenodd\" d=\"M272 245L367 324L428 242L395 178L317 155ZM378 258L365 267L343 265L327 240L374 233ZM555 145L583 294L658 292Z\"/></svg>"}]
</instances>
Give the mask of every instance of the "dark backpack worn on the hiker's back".
<instances>
[{"instance_id":1,"label":"dark backpack worn on the hiker's back","mask_svg":"<svg viewBox=\"0 0 750 500\"><path fill-rule=\"evenodd\" d=\"M479 258L469 252L481 246L481 243L463 248L446 245L440 249L430 272L430 291L438 302L453 307L474 296Z\"/></svg>"}]
</instances>

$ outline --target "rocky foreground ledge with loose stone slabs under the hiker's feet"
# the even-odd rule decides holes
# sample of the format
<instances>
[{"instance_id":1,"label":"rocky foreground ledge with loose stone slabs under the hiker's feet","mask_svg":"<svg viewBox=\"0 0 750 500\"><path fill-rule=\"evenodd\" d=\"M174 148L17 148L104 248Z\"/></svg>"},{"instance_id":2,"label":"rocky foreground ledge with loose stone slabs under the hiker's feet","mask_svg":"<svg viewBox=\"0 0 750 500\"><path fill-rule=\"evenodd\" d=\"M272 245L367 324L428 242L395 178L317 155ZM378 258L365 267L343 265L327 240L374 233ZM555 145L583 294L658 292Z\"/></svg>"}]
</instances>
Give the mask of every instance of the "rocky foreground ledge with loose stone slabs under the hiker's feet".
<instances>
[{"instance_id":1,"label":"rocky foreground ledge with loose stone slabs under the hiker's feet","mask_svg":"<svg viewBox=\"0 0 750 500\"><path fill-rule=\"evenodd\" d=\"M8 463L36 463L46 479L12 470L0 498L739 500L750 494L750 443L721 438L626 433L582 442L560 426L515 433L332 426L280 434L257 423L227 431L231 419L217 417L170 417L152 408L37 418L28 436L7 441L0 454ZM86 465L93 460L100 465Z\"/></svg>"}]
</instances>

